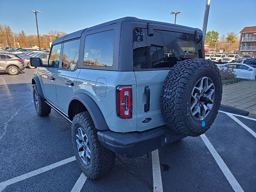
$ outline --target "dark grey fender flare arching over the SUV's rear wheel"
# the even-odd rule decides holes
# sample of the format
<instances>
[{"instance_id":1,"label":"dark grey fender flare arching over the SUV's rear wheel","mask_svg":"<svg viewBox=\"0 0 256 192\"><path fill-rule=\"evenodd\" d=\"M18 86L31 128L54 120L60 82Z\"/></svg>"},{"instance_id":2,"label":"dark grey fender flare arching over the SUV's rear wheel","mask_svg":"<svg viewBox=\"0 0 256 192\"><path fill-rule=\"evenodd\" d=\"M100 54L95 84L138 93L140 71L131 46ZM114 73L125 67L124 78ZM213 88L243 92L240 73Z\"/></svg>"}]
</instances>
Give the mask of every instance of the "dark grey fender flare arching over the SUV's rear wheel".
<instances>
[{"instance_id":1,"label":"dark grey fender flare arching over the SUV's rear wheel","mask_svg":"<svg viewBox=\"0 0 256 192\"><path fill-rule=\"evenodd\" d=\"M94 126L97 130L109 130L106 120L105 120L100 108L98 107L96 102L90 96L88 96L87 94L84 94L84 93L76 94L75 96L73 96L71 98L68 106L70 106L70 103L72 102L72 100L78 100L86 107L86 109L90 113L90 116L92 117ZM69 114L68 114L68 116L69 116Z\"/></svg>"}]
</instances>

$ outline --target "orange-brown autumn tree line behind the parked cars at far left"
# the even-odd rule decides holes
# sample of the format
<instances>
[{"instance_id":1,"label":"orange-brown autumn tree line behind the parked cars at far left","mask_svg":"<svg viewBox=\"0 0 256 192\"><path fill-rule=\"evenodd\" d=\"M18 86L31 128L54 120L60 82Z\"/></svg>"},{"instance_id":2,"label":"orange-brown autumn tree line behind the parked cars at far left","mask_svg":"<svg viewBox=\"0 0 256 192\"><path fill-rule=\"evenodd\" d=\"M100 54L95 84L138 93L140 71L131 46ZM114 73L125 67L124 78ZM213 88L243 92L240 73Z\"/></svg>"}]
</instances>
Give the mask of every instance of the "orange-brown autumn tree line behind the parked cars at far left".
<instances>
[{"instance_id":1,"label":"orange-brown autumn tree line behind the parked cars at far left","mask_svg":"<svg viewBox=\"0 0 256 192\"><path fill-rule=\"evenodd\" d=\"M48 34L39 34L40 46L41 48L50 48L50 42L52 38L52 42L57 38L66 35L65 32L51 30ZM0 47L18 47L18 43L20 47L32 47L38 46L38 36L37 34L27 35L24 30L21 32L13 32L10 26L0 24Z\"/></svg>"}]
</instances>

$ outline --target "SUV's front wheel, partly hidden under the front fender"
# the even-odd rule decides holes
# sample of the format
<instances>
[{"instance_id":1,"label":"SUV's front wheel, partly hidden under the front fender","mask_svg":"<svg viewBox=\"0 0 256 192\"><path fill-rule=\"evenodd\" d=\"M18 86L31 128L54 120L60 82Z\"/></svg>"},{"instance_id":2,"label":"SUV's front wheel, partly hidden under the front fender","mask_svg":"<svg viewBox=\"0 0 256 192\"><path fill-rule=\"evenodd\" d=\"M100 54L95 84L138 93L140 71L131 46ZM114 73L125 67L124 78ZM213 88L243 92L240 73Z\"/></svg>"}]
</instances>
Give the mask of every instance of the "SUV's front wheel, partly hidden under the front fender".
<instances>
[{"instance_id":1,"label":"SUV's front wheel, partly hidden under the front fender","mask_svg":"<svg viewBox=\"0 0 256 192\"><path fill-rule=\"evenodd\" d=\"M48 104L46 104L44 99L40 96L36 84L33 86L33 100L36 113L39 116L47 116L50 114L52 108L48 106Z\"/></svg>"}]
</instances>

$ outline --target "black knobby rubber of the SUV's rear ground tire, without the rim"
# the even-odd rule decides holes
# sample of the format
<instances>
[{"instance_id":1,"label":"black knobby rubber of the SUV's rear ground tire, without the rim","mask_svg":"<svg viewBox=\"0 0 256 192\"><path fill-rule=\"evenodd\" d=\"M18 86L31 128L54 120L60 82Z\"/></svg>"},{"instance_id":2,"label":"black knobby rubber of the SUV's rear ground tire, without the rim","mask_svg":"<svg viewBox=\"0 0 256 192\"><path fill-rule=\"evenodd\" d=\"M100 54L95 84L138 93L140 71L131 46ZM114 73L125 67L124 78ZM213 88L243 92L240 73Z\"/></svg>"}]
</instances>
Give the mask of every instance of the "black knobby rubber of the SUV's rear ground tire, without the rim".
<instances>
[{"instance_id":1,"label":"black knobby rubber of the SUV's rear ground tire, without the rim","mask_svg":"<svg viewBox=\"0 0 256 192\"><path fill-rule=\"evenodd\" d=\"M77 129L82 128L90 143L90 164L86 165L78 154L76 143ZM94 126L89 112L82 112L74 116L72 122L72 143L74 154L78 165L84 172L87 178L96 179L108 174L114 167L116 154L104 146L98 140L97 130Z\"/></svg>"}]
</instances>

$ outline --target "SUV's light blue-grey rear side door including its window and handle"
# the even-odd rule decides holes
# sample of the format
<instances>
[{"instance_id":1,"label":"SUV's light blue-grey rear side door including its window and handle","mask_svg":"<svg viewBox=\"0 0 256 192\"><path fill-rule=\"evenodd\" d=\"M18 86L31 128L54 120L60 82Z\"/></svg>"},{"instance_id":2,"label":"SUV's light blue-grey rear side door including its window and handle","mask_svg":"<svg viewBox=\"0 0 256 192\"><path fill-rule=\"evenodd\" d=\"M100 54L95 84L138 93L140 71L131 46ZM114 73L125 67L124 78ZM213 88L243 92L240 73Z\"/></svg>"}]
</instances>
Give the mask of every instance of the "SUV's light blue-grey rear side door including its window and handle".
<instances>
[{"instance_id":1,"label":"SUV's light blue-grey rear side door including its window and handle","mask_svg":"<svg viewBox=\"0 0 256 192\"><path fill-rule=\"evenodd\" d=\"M78 66L80 39L64 42L62 61L56 74L56 90L59 109L68 114L70 99L76 94L76 80L80 72Z\"/></svg>"}]
</instances>

